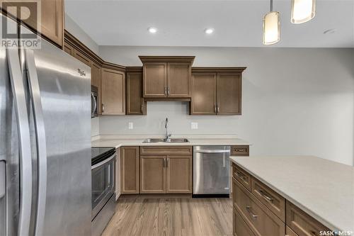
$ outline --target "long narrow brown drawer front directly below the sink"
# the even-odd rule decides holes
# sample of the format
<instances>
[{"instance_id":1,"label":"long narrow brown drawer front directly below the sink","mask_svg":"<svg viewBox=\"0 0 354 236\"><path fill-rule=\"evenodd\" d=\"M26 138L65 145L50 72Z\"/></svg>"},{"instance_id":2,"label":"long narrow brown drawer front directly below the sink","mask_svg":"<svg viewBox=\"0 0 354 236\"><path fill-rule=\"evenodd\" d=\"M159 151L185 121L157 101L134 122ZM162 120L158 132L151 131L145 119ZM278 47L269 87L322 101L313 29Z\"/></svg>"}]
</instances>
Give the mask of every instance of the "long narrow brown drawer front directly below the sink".
<instances>
[{"instance_id":1,"label":"long narrow brown drawer front directly below the sink","mask_svg":"<svg viewBox=\"0 0 354 236\"><path fill-rule=\"evenodd\" d=\"M140 154L178 154L178 155L191 155L193 154L192 146L149 146L140 147Z\"/></svg>"}]
</instances>

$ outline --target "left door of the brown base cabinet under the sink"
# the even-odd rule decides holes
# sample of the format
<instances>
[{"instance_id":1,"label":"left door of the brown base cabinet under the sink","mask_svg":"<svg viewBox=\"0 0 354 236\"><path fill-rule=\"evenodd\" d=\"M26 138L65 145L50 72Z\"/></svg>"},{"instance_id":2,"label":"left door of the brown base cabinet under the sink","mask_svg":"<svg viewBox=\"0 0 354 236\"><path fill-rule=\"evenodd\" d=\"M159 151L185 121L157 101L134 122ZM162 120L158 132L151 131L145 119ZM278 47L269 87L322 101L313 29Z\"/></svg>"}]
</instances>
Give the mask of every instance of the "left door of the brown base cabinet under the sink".
<instances>
[{"instance_id":1,"label":"left door of the brown base cabinet under the sink","mask_svg":"<svg viewBox=\"0 0 354 236\"><path fill-rule=\"evenodd\" d=\"M166 156L140 156L140 193L166 193Z\"/></svg>"}]
</instances>

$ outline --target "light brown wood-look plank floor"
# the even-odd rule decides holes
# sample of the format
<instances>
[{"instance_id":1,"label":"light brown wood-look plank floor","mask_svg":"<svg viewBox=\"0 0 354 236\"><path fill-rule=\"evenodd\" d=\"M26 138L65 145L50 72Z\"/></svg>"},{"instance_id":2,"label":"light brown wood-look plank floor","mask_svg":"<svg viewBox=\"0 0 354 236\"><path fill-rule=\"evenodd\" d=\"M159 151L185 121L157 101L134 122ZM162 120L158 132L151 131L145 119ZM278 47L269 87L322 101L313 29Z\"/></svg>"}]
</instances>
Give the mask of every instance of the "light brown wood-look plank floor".
<instances>
[{"instance_id":1,"label":"light brown wood-look plank floor","mask_svg":"<svg viewBox=\"0 0 354 236\"><path fill-rule=\"evenodd\" d=\"M230 198L120 198L103 236L232 235Z\"/></svg>"}]
</instances>

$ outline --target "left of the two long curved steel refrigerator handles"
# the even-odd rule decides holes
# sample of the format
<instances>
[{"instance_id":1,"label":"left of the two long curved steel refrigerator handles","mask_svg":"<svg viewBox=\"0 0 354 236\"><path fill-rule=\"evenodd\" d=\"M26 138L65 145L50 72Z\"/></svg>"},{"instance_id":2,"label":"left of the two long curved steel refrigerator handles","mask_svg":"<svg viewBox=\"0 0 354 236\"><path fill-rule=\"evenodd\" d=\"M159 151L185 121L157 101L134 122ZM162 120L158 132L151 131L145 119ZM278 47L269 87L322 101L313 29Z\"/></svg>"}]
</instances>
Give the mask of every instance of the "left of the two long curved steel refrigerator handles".
<instances>
[{"instance_id":1,"label":"left of the two long curved steel refrigerator handles","mask_svg":"<svg viewBox=\"0 0 354 236\"><path fill-rule=\"evenodd\" d=\"M30 230L30 210L32 207L32 157L30 151L28 110L18 50L6 49L6 55L13 101L15 104L20 152L20 210L18 235L28 235Z\"/></svg>"}]
</instances>

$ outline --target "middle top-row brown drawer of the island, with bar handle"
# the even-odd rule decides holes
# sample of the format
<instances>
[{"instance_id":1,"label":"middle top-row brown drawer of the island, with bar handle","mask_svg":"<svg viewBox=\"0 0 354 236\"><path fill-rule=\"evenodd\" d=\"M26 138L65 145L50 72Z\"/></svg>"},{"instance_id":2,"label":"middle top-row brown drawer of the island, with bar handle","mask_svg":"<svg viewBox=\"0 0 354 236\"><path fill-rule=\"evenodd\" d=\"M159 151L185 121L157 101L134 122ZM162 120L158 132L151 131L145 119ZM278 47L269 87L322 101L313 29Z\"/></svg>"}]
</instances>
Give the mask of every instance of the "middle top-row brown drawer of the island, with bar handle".
<instances>
[{"instance_id":1,"label":"middle top-row brown drawer of the island, with bar handle","mask_svg":"<svg viewBox=\"0 0 354 236\"><path fill-rule=\"evenodd\" d=\"M285 198L253 176L251 178L251 193L285 222Z\"/></svg>"}]
</instances>

